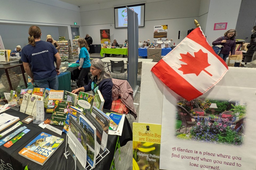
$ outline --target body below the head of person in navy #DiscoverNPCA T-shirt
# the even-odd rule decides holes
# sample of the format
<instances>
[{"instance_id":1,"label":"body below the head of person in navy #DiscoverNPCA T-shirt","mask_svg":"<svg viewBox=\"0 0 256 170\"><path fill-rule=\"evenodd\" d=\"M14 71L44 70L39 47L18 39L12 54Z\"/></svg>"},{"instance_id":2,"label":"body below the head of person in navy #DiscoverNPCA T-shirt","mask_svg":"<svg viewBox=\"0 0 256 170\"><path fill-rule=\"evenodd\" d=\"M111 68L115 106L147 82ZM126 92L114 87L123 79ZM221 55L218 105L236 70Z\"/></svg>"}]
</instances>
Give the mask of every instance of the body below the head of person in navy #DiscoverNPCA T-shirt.
<instances>
[{"instance_id":1,"label":"body below the head of person in navy #DiscoverNPCA T-shirt","mask_svg":"<svg viewBox=\"0 0 256 170\"><path fill-rule=\"evenodd\" d=\"M58 90L59 66L61 58L58 50L49 42L34 39L35 46L26 45L22 49L21 61L31 82L40 88ZM56 67L54 66L56 58ZM30 66L29 66L30 65Z\"/></svg>"}]
</instances>

